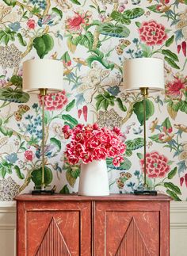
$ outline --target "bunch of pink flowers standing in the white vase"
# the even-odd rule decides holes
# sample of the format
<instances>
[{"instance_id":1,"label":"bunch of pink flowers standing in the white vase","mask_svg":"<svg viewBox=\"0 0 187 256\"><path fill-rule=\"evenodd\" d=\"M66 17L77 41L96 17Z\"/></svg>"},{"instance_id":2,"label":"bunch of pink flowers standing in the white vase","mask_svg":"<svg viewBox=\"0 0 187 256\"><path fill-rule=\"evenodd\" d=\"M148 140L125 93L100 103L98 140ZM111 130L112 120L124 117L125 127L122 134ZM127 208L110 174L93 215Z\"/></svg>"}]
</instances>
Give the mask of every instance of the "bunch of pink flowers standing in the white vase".
<instances>
[{"instance_id":1,"label":"bunch of pink flowers standing in the white vase","mask_svg":"<svg viewBox=\"0 0 187 256\"><path fill-rule=\"evenodd\" d=\"M64 125L63 133L66 139L71 137L71 143L67 144L65 151L70 164L88 163L107 157L113 158L114 166L120 166L120 162L124 162L122 154L126 146L120 128L99 128L97 123L78 124L73 129Z\"/></svg>"}]
</instances>

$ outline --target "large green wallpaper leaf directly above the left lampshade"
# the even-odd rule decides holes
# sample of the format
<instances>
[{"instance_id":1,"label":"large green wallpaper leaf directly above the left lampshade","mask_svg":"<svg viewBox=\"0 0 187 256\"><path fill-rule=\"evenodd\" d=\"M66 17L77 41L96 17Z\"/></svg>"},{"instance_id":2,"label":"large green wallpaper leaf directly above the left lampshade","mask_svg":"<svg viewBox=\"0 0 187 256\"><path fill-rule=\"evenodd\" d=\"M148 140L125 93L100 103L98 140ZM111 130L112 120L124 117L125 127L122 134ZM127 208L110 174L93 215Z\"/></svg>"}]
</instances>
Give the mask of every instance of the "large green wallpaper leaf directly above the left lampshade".
<instances>
[{"instance_id":1,"label":"large green wallpaper leaf directly above the left lampshade","mask_svg":"<svg viewBox=\"0 0 187 256\"><path fill-rule=\"evenodd\" d=\"M40 59L43 59L44 55L47 55L54 47L54 40L52 36L44 34L43 36L36 37L33 40L33 47L36 49L37 55L39 55Z\"/></svg>"}]
</instances>

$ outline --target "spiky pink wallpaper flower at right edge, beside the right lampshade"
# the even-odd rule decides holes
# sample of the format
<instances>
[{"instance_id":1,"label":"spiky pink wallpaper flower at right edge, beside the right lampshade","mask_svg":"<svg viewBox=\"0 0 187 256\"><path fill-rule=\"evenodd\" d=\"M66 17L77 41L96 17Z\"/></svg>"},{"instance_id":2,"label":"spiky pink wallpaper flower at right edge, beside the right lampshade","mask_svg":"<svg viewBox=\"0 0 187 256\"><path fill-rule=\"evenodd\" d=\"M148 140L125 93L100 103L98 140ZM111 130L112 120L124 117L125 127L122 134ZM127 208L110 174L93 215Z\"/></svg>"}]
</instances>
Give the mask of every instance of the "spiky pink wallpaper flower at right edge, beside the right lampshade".
<instances>
[{"instance_id":1,"label":"spiky pink wallpaper flower at right edge, beside the right lampshade","mask_svg":"<svg viewBox=\"0 0 187 256\"><path fill-rule=\"evenodd\" d=\"M171 97L182 97L181 90L185 88L185 81L174 77L174 81L166 83L166 95Z\"/></svg>"}]
</instances>

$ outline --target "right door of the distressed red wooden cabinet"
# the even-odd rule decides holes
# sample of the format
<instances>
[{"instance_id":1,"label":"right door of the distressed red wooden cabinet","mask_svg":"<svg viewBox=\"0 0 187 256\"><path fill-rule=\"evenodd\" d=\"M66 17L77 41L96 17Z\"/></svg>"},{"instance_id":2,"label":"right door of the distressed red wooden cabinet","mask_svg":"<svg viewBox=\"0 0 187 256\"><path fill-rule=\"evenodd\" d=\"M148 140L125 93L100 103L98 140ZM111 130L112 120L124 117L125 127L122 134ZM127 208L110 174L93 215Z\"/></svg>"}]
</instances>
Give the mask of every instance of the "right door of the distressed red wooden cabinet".
<instances>
[{"instance_id":1,"label":"right door of the distressed red wooden cabinet","mask_svg":"<svg viewBox=\"0 0 187 256\"><path fill-rule=\"evenodd\" d=\"M159 256L160 204L96 202L95 256Z\"/></svg>"}]
</instances>

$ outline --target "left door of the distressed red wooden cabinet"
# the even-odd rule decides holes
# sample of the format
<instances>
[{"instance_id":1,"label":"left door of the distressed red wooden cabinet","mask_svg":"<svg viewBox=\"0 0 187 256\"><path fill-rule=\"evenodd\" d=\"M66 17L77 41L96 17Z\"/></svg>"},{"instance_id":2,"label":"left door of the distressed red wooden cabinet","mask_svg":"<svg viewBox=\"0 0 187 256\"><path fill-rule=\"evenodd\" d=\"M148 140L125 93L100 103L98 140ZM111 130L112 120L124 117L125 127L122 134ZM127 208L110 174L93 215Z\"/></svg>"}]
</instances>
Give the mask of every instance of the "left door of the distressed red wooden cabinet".
<instances>
[{"instance_id":1,"label":"left door of the distressed red wooden cabinet","mask_svg":"<svg viewBox=\"0 0 187 256\"><path fill-rule=\"evenodd\" d=\"M18 202L17 255L91 255L90 202Z\"/></svg>"}]
</instances>

